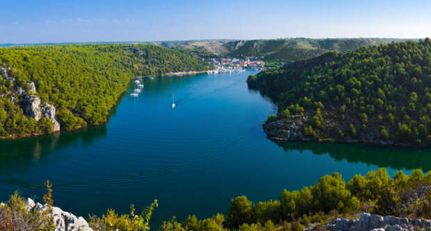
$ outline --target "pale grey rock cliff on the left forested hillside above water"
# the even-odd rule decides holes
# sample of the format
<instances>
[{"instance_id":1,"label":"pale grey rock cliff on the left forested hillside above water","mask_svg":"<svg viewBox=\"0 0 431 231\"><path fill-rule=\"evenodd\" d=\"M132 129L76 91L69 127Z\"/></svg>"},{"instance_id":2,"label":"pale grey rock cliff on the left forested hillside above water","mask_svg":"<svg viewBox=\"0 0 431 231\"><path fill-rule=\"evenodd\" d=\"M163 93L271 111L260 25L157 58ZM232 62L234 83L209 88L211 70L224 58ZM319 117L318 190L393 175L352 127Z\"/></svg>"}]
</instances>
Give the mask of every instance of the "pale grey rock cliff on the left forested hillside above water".
<instances>
[{"instance_id":1,"label":"pale grey rock cliff on the left forested hillside above water","mask_svg":"<svg viewBox=\"0 0 431 231\"><path fill-rule=\"evenodd\" d=\"M60 123L56 120L56 108L49 104L40 104L40 98L33 95L25 95L23 98L23 109L26 115L39 121L42 118L49 118L52 121L54 132L60 130Z\"/></svg>"}]
</instances>

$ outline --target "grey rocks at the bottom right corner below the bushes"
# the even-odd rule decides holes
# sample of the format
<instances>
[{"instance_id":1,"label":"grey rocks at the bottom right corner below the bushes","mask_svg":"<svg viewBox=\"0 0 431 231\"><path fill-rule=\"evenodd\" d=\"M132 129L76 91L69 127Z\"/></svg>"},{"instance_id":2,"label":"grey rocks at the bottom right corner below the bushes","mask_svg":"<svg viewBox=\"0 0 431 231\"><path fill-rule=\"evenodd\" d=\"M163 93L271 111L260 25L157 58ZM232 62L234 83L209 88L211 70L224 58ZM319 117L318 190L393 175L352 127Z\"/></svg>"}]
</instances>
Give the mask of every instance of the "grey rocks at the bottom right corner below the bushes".
<instances>
[{"instance_id":1,"label":"grey rocks at the bottom right corner below the bushes","mask_svg":"<svg viewBox=\"0 0 431 231\"><path fill-rule=\"evenodd\" d=\"M407 219L395 216L380 216L374 214L361 214L360 219L336 219L327 224L329 230L334 231L407 231L407 230L430 230L431 220L425 219Z\"/></svg>"}]
</instances>

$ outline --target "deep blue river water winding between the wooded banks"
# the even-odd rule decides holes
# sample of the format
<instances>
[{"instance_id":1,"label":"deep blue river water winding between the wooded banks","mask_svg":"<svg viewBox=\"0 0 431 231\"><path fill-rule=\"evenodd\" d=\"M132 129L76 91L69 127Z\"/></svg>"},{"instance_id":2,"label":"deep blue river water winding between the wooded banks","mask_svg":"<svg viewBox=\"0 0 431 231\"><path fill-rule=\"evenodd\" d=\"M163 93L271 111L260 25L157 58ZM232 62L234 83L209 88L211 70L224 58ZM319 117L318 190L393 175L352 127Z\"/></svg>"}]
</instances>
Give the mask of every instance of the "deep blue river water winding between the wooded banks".
<instances>
[{"instance_id":1,"label":"deep blue river water winding between the wooded banks","mask_svg":"<svg viewBox=\"0 0 431 231\"><path fill-rule=\"evenodd\" d=\"M247 89L249 74L148 78L106 126L0 141L0 200L19 189L40 201L49 179L54 205L84 217L157 199L154 228L225 213L235 196L277 199L334 171L348 180L379 167L431 170L429 149L271 142L261 124L276 106Z\"/></svg>"}]
</instances>

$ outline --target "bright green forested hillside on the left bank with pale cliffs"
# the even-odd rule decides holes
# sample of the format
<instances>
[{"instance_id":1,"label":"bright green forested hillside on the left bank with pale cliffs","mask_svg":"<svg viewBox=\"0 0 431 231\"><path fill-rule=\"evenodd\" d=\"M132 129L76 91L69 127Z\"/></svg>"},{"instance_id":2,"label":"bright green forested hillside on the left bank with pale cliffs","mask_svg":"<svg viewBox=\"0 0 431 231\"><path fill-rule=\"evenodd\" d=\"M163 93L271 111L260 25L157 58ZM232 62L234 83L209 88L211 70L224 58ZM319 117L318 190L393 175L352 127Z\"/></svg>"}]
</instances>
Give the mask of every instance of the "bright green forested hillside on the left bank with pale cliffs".
<instances>
[{"instance_id":1,"label":"bright green forested hillside on the left bank with pale cliffs","mask_svg":"<svg viewBox=\"0 0 431 231\"><path fill-rule=\"evenodd\" d=\"M96 126L108 120L109 110L135 76L209 68L184 53L154 45L3 48L0 137L51 132L56 121L61 130Z\"/></svg>"}]
</instances>

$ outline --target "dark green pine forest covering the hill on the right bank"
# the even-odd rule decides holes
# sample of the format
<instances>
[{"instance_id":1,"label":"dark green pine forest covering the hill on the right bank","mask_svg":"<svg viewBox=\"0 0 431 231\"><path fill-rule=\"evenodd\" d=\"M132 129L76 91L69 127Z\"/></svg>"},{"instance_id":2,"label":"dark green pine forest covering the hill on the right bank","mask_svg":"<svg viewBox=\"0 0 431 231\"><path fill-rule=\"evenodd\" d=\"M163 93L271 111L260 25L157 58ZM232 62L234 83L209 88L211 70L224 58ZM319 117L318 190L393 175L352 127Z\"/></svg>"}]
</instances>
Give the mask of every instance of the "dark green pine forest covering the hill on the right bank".
<instances>
[{"instance_id":1,"label":"dark green pine forest covering the hill on the right bank","mask_svg":"<svg viewBox=\"0 0 431 231\"><path fill-rule=\"evenodd\" d=\"M430 51L428 38L330 51L247 83L277 101L267 123L303 117L306 139L431 146Z\"/></svg>"}]
</instances>

